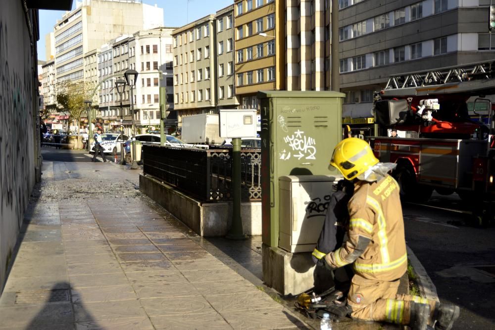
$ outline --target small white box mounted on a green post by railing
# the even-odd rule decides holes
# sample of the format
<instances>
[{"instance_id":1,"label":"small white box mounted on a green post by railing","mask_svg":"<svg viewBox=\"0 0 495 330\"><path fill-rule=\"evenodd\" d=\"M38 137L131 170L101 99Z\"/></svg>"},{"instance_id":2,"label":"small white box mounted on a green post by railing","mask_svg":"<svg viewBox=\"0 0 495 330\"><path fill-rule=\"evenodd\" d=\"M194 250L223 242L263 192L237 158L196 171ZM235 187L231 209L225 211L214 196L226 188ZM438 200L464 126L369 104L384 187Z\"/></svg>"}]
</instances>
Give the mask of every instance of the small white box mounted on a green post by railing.
<instances>
[{"instance_id":1,"label":"small white box mounted on a green post by railing","mask_svg":"<svg viewBox=\"0 0 495 330\"><path fill-rule=\"evenodd\" d=\"M256 137L256 109L220 110L220 136L222 138Z\"/></svg>"}]
</instances>

